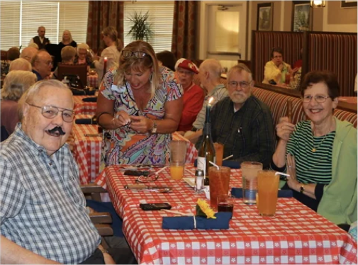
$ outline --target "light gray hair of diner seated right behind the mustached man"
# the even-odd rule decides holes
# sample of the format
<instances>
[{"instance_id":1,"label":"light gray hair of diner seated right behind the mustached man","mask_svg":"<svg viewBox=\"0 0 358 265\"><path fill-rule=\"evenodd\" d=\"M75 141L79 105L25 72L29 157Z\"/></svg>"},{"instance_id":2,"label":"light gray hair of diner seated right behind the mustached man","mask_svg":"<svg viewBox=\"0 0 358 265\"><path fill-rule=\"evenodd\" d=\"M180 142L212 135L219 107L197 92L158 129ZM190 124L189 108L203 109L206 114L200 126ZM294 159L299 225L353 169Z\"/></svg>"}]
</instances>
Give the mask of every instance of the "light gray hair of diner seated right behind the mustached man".
<instances>
[{"instance_id":1,"label":"light gray hair of diner seated right behind the mustached man","mask_svg":"<svg viewBox=\"0 0 358 265\"><path fill-rule=\"evenodd\" d=\"M28 61L26 62L30 64ZM1 99L18 101L23 93L35 84L36 81L37 77L33 72L21 70L9 72L4 79L4 85L1 89Z\"/></svg>"}]
</instances>

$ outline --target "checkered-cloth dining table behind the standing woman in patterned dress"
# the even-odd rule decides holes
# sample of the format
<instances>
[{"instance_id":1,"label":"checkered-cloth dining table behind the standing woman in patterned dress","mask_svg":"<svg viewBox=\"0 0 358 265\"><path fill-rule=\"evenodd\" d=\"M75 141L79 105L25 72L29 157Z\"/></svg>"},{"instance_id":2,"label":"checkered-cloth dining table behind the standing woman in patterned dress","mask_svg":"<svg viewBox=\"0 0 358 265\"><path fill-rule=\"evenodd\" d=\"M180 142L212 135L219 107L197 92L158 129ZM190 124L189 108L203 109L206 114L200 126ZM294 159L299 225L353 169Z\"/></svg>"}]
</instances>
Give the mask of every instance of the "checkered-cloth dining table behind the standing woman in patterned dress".
<instances>
[{"instance_id":1,"label":"checkered-cloth dining table behind the standing woman in patterned dress","mask_svg":"<svg viewBox=\"0 0 358 265\"><path fill-rule=\"evenodd\" d=\"M79 114L76 115L75 120L91 117L92 115L89 114ZM76 123L73 125L68 143L79 167L79 180L81 184L94 182L99 175L102 137L103 133L99 133L98 125ZM178 133L172 133L172 139L186 141L186 162L194 163L198 155L195 145Z\"/></svg>"}]
</instances>

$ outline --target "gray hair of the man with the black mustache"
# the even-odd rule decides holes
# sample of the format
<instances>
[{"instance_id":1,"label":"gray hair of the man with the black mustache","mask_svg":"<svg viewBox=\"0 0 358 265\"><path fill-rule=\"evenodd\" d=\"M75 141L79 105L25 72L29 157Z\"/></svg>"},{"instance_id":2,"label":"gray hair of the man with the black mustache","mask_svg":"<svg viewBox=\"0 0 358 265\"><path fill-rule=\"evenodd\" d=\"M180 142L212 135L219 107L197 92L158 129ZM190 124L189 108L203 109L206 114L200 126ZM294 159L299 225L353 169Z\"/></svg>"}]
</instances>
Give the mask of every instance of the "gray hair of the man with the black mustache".
<instances>
[{"instance_id":1,"label":"gray hair of the man with the black mustache","mask_svg":"<svg viewBox=\"0 0 358 265\"><path fill-rule=\"evenodd\" d=\"M21 96L21 98L18 100L18 120L20 121L23 120L23 104L28 101L32 102L33 99L36 98L40 93L40 89L42 89L45 86L52 86L57 89L69 90L66 84L63 84L61 81L58 81L56 79L41 80L36 82L35 84L33 84L33 86L30 86L30 88L26 90L23 96Z\"/></svg>"}]
</instances>

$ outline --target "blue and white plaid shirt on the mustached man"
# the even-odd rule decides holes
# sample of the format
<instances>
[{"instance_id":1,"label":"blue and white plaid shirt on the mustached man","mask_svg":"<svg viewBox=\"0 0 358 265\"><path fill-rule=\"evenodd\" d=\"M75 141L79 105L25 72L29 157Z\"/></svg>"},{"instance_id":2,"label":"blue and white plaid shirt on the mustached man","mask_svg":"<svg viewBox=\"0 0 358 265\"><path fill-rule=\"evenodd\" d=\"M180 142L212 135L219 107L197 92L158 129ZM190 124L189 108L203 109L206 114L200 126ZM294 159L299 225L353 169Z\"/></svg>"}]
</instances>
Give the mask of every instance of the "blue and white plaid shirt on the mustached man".
<instances>
[{"instance_id":1,"label":"blue and white plaid shirt on the mustached man","mask_svg":"<svg viewBox=\"0 0 358 265\"><path fill-rule=\"evenodd\" d=\"M101 237L86 213L68 146L49 157L18 124L0 155L1 235L61 263L89 258Z\"/></svg>"}]
</instances>

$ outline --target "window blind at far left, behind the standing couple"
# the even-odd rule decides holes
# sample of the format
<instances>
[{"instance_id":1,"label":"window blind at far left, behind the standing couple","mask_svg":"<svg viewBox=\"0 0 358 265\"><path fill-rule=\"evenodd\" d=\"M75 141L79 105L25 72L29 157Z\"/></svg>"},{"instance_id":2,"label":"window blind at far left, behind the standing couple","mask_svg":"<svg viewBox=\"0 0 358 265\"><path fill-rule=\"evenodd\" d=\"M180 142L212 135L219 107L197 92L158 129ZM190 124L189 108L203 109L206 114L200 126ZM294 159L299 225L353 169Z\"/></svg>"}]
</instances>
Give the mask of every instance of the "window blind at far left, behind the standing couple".
<instances>
[{"instance_id":1,"label":"window blind at far left, behind the standing couple","mask_svg":"<svg viewBox=\"0 0 358 265\"><path fill-rule=\"evenodd\" d=\"M86 43L88 1L0 1L1 50L13 46L27 47L38 35L38 27L46 28L46 38L57 44L63 30L71 31L77 43Z\"/></svg>"}]
</instances>

